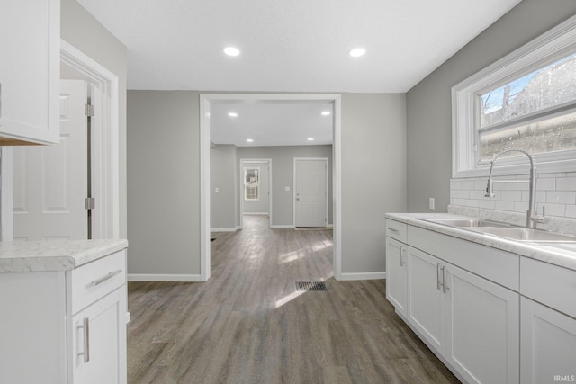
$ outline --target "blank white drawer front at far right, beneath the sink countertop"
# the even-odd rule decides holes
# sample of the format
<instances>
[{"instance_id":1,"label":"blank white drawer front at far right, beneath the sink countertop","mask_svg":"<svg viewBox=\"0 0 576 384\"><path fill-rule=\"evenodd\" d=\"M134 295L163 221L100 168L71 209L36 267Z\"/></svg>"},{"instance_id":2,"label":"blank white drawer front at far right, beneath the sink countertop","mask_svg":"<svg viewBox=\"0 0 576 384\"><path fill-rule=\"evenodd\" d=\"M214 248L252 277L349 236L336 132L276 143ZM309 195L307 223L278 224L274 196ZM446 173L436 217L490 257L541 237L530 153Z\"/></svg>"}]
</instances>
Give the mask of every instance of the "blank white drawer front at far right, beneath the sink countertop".
<instances>
[{"instance_id":1,"label":"blank white drawer front at far right, beneath the sink countertop","mask_svg":"<svg viewBox=\"0 0 576 384\"><path fill-rule=\"evenodd\" d=\"M576 271L522 257L520 294L576 317Z\"/></svg>"}]
</instances>

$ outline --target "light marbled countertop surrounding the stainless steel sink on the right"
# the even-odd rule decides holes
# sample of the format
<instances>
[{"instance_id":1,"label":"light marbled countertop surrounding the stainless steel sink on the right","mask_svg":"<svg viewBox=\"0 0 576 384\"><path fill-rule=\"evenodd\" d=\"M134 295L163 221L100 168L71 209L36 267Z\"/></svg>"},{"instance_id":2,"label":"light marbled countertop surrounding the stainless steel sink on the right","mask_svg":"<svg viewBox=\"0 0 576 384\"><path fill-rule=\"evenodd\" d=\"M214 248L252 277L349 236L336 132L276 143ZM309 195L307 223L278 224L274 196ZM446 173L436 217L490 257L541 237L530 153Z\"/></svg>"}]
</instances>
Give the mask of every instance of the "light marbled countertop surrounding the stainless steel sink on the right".
<instances>
[{"instance_id":1,"label":"light marbled countertop surrounding the stainless steel sink on the right","mask_svg":"<svg viewBox=\"0 0 576 384\"><path fill-rule=\"evenodd\" d=\"M386 218L576 271L576 243L520 242L494 235L474 232L464 228L455 228L420 220L441 218L471 219L468 216L454 215L450 213L387 213Z\"/></svg>"}]
</instances>

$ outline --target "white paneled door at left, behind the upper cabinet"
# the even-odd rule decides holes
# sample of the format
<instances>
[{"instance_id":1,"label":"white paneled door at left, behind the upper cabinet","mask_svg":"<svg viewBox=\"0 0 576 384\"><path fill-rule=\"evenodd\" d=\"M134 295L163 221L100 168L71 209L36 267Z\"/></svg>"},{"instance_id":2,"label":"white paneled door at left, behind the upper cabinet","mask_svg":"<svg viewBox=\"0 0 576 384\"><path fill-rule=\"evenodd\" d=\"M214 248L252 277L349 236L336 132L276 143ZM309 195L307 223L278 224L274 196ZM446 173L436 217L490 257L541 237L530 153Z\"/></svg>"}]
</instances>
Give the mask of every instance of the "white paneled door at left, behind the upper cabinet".
<instances>
[{"instance_id":1,"label":"white paneled door at left, behind the upper cabinet","mask_svg":"<svg viewBox=\"0 0 576 384\"><path fill-rule=\"evenodd\" d=\"M14 147L14 240L87 238L87 85L60 83L60 143Z\"/></svg>"}]
</instances>

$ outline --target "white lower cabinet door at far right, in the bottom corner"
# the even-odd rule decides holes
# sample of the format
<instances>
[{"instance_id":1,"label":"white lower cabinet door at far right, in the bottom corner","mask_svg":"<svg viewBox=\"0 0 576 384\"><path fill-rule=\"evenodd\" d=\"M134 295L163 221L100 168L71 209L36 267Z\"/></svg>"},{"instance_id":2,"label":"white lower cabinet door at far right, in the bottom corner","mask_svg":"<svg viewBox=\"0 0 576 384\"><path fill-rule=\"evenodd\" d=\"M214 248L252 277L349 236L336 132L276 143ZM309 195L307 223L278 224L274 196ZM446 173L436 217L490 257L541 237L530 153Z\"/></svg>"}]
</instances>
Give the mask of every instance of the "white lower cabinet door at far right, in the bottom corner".
<instances>
[{"instance_id":1,"label":"white lower cabinet door at far right, in the bottom corner","mask_svg":"<svg viewBox=\"0 0 576 384\"><path fill-rule=\"evenodd\" d=\"M576 381L576 318L522 297L523 384Z\"/></svg>"}]
</instances>

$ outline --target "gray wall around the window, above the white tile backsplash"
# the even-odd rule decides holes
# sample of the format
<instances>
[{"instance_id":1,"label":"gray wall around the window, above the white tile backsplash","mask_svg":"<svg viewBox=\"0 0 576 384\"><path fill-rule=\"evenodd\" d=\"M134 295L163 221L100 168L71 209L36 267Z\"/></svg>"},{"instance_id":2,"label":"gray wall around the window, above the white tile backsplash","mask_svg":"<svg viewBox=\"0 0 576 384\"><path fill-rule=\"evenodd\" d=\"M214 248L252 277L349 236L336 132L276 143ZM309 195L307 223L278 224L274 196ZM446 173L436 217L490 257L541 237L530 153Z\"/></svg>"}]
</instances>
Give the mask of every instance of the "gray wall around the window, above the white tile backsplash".
<instances>
[{"instance_id":1,"label":"gray wall around the window, above the white tile backsplash","mask_svg":"<svg viewBox=\"0 0 576 384\"><path fill-rule=\"evenodd\" d=\"M446 211L452 175L451 88L576 13L573 0L524 0L407 94L408 209Z\"/></svg>"}]
</instances>

